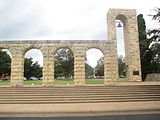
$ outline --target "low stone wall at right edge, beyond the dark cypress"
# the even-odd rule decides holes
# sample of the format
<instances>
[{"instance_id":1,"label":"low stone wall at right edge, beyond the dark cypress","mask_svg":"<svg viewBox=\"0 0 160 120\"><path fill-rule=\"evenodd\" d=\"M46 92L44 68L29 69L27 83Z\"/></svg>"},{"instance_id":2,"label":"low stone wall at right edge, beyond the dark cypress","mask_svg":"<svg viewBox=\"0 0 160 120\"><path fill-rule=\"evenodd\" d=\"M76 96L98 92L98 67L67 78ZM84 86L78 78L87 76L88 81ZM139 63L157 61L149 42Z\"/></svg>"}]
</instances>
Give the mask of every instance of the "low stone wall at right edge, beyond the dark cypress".
<instances>
[{"instance_id":1,"label":"low stone wall at right edge, beyond the dark cypress","mask_svg":"<svg viewBox=\"0 0 160 120\"><path fill-rule=\"evenodd\" d=\"M148 74L145 81L160 81L160 73Z\"/></svg>"}]
</instances>

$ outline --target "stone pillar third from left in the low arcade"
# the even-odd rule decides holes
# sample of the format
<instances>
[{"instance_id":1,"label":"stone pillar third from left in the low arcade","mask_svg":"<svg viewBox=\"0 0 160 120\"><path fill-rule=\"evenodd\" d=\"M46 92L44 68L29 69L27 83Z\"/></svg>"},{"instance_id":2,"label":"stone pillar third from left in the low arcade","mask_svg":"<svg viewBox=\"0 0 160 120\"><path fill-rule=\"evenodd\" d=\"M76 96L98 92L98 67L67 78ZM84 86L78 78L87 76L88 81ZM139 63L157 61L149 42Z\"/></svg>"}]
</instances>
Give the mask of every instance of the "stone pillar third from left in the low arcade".
<instances>
[{"instance_id":1,"label":"stone pillar third from left in the low arcade","mask_svg":"<svg viewBox=\"0 0 160 120\"><path fill-rule=\"evenodd\" d=\"M74 82L76 86L85 84L85 55L80 50L74 52Z\"/></svg>"}]
</instances>

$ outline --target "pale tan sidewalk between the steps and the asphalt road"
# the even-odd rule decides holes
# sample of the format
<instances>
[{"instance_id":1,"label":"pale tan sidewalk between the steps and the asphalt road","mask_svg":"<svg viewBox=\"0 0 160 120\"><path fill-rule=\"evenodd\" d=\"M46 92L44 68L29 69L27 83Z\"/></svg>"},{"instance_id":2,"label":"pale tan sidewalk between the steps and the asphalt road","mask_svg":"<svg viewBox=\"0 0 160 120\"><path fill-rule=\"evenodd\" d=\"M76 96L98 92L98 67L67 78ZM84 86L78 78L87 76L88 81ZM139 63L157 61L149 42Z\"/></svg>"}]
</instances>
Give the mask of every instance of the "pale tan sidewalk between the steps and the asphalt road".
<instances>
[{"instance_id":1,"label":"pale tan sidewalk between the steps and the asphalt road","mask_svg":"<svg viewBox=\"0 0 160 120\"><path fill-rule=\"evenodd\" d=\"M0 117L59 117L160 113L160 101L77 103L77 104L1 104Z\"/></svg>"}]
</instances>

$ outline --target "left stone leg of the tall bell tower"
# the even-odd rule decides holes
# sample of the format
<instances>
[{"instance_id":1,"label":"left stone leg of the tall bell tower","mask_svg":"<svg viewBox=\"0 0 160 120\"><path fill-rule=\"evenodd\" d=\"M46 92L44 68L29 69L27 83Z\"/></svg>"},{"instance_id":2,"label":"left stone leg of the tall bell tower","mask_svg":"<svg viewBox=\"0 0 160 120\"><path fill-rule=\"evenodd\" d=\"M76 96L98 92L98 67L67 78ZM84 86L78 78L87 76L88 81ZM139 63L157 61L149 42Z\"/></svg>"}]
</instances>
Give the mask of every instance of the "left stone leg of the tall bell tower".
<instances>
[{"instance_id":1,"label":"left stone leg of the tall bell tower","mask_svg":"<svg viewBox=\"0 0 160 120\"><path fill-rule=\"evenodd\" d=\"M107 32L108 41L110 41L108 52L105 55L105 84L111 84L118 80L118 55L117 55L117 40L115 13L111 10L107 14Z\"/></svg>"}]
</instances>

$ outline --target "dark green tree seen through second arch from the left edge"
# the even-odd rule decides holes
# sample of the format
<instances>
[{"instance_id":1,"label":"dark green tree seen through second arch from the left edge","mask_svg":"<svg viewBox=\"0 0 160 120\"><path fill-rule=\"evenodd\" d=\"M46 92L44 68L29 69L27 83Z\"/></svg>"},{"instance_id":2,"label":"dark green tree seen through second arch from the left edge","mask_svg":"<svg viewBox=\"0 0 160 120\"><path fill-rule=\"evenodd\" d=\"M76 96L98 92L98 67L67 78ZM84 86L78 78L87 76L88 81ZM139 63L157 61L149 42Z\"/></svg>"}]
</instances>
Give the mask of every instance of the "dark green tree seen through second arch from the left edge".
<instances>
[{"instance_id":1,"label":"dark green tree seen through second arch from the left edge","mask_svg":"<svg viewBox=\"0 0 160 120\"><path fill-rule=\"evenodd\" d=\"M38 62L34 63L32 58L25 58L24 60L24 77L27 80L30 80L31 77L42 77L42 67Z\"/></svg>"}]
</instances>

